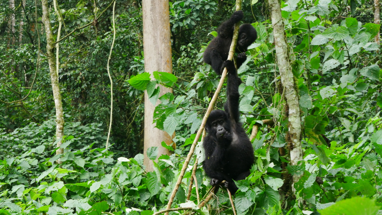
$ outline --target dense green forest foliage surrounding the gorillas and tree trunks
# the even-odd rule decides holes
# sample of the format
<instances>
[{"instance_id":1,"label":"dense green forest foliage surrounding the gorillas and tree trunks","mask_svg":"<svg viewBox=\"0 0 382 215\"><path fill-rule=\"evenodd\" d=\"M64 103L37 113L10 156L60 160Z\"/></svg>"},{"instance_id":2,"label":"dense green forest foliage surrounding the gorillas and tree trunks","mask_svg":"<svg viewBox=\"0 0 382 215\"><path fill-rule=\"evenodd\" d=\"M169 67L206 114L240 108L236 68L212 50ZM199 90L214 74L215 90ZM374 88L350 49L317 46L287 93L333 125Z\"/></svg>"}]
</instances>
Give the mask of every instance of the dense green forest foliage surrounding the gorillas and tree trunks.
<instances>
[{"instance_id":1,"label":"dense green forest foliage surrounding the gorillas and tree trunks","mask_svg":"<svg viewBox=\"0 0 382 215\"><path fill-rule=\"evenodd\" d=\"M62 155L52 154L55 106L42 5L31 0L0 0L0 5L0 213L123 214L131 208L165 208L219 80L201 56L213 31L232 14L234 1L170 1L173 76L157 71L155 80L143 79L141 1L117 1L108 151L111 92L106 65L113 37L112 1L58 2L63 16L58 76L65 120ZM53 2L48 5L57 35L58 17ZM256 123L259 130L253 140L255 166L239 183L235 197L239 214L316 213L344 199L349 200L341 204L357 214L355 207L361 203L374 209L375 202L381 202L381 56L374 42L380 26L374 24L372 5L357 0L281 2L302 121L303 162L291 166L287 92L280 84L270 11L266 2L243 2L244 22L254 24L259 38L239 70L244 82L240 109L248 134ZM50 51L55 53L55 48ZM170 87L173 94L159 96L157 84ZM144 171L141 154L145 89L150 100L161 101L153 114L156 127L175 132L177 146L168 147L173 154L160 157L156 148L149 150L148 158L157 159L152 172ZM224 95L221 92L216 108L222 108ZM259 126L271 118L274 127ZM200 150L198 145L199 163L204 159ZM59 157L63 163L56 166ZM293 196L288 182L301 173ZM190 200L197 203L197 192L200 197L207 193L203 170L195 170L193 177L189 167L173 207L186 207L181 204L191 177L198 190L192 186ZM355 196L365 198L354 204ZM217 197L209 212L232 214L226 193ZM298 204L296 199L303 201Z\"/></svg>"}]
</instances>

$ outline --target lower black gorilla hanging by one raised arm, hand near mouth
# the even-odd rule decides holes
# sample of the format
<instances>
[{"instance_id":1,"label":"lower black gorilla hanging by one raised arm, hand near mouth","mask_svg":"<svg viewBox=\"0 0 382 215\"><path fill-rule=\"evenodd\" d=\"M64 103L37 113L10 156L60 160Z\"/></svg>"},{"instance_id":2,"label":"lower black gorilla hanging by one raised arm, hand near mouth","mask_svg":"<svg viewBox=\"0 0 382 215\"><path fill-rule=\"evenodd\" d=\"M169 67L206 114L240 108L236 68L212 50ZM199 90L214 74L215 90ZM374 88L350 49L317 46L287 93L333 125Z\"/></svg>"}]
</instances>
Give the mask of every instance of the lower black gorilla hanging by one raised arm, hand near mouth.
<instances>
[{"instance_id":1,"label":"lower black gorilla hanging by one raised arm, hand near mouth","mask_svg":"<svg viewBox=\"0 0 382 215\"><path fill-rule=\"evenodd\" d=\"M224 111L213 110L207 119L203 168L212 186L225 180L224 186L235 194L238 187L233 180L243 180L250 174L255 157L251 141L240 123L239 85L242 80L233 61L226 60L222 67L228 71L227 103Z\"/></svg>"}]
</instances>

